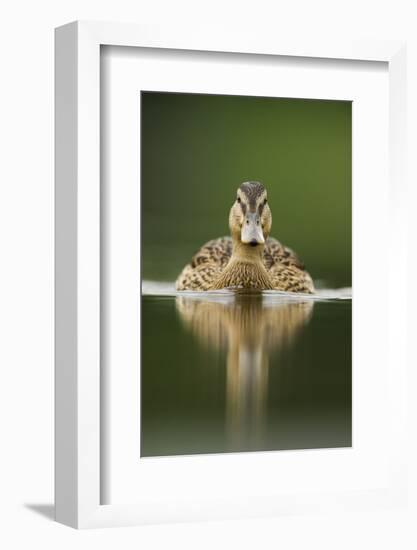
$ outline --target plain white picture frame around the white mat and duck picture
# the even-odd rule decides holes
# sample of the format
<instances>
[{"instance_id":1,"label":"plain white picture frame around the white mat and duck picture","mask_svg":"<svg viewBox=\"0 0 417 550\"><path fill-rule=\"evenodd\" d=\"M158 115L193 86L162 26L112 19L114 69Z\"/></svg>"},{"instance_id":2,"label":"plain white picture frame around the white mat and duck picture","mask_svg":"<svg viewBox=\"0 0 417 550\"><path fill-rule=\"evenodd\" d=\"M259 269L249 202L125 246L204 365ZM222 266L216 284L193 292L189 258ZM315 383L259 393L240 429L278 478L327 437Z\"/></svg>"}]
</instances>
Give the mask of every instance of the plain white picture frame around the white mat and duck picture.
<instances>
[{"instance_id":1,"label":"plain white picture frame around the white mat and duck picture","mask_svg":"<svg viewBox=\"0 0 417 550\"><path fill-rule=\"evenodd\" d=\"M158 506L144 513L135 504L101 504L100 499L100 47L128 46L264 54L304 58L382 61L389 71L390 189L395 211L390 220L393 238L405 242L405 46L401 42L282 42L273 36L190 29L149 28L112 23L75 22L56 30L56 519L73 527L102 527L158 521ZM404 265L405 249L398 262ZM405 272L399 273L405 281ZM404 283L405 286L405 283ZM390 301L391 314L405 322L404 302ZM399 341L398 376L391 385L397 419L404 419L405 346ZM404 344L404 343L403 343ZM401 424L401 423L400 423ZM404 424L404 422L403 422ZM402 473L403 425L387 491L362 491L365 505L392 504L404 496ZM348 506L340 493L306 497L294 509ZM290 496L290 500L294 495ZM238 517L288 511L285 502L259 498L251 506L201 507L194 519ZM354 500L357 505L357 499ZM254 508L256 510L254 511ZM186 508L184 508L186 510ZM215 513L214 513L215 512ZM174 505L162 519L187 519ZM191 519L191 518L190 518Z\"/></svg>"}]
</instances>

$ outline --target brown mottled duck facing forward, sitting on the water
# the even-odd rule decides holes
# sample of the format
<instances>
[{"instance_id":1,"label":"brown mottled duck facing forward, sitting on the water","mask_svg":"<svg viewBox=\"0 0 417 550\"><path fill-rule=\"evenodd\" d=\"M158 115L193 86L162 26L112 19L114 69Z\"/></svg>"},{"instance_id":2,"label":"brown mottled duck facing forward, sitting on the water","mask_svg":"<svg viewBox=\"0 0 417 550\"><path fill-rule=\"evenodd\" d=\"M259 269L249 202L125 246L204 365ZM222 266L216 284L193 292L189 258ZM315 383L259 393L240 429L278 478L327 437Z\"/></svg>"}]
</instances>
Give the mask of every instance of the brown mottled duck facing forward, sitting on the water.
<instances>
[{"instance_id":1,"label":"brown mottled duck facing forward, sitting on the water","mask_svg":"<svg viewBox=\"0 0 417 550\"><path fill-rule=\"evenodd\" d=\"M177 290L250 288L314 293L304 264L290 248L269 236L271 209L265 187L247 181L230 210L230 237L207 242L179 275Z\"/></svg>"}]
</instances>

